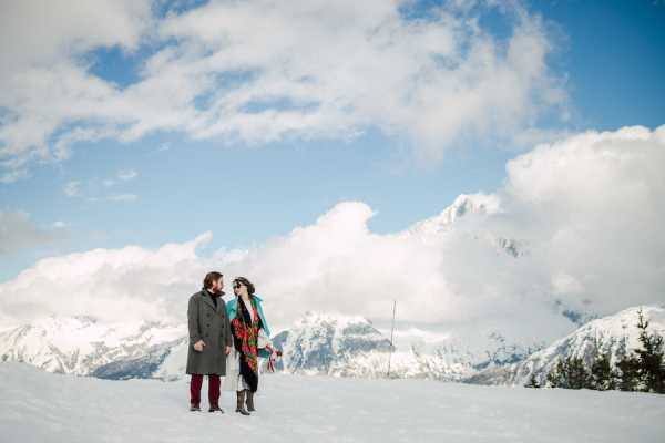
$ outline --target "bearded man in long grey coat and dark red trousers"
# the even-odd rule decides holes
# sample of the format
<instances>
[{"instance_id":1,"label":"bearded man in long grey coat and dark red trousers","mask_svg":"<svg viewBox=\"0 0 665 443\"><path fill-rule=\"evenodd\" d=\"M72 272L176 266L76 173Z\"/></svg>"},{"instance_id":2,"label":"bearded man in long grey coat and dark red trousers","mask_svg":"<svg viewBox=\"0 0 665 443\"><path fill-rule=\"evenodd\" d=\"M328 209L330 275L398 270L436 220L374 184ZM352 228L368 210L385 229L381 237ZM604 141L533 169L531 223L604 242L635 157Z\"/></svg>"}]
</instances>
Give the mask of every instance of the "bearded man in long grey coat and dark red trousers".
<instances>
[{"instance_id":1,"label":"bearded man in long grey coat and dark red trousers","mask_svg":"<svg viewBox=\"0 0 665 443\"><path fill-rule=\"evenodd\" d=\"M203 289L192 297L187 307L190 348L187 373L190 382L190 411L201 411L203 375L208 375L209 412L224 412L219 408L219 377L226 375L226 356L231 352L231 323L226 313L223 276L208 272Z\"/></svg>"}]
</instances>

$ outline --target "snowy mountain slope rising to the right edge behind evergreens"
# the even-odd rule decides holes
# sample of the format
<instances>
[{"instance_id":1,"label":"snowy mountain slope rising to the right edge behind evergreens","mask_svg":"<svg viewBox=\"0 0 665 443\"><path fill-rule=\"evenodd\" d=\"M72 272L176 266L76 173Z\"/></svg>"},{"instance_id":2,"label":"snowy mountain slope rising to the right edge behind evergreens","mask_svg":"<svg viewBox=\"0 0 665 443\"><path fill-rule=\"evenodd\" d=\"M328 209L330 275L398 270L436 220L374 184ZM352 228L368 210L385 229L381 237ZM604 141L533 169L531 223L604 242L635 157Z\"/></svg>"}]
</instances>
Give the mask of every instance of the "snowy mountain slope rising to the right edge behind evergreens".
<instances>
[{"instance_id":1,"label":"snowy mountain slope rising to the right edge behind evergreens","mask_svg":"<svg viewBox=\"0 0 665 443\"><path fill-rule=\"evenodd\" d=\"M616 315L592 320L551 346L529 356L526 359L481 371L466 381L480 384L525 384L531 374L544 382L560 358L569 356L582 358L587 365L598 353L608 354L611 364L640 347L637 311L643 310L649 321L648 330L665 336L665 306L632 307Z\"/></svg>"}]
</instances>

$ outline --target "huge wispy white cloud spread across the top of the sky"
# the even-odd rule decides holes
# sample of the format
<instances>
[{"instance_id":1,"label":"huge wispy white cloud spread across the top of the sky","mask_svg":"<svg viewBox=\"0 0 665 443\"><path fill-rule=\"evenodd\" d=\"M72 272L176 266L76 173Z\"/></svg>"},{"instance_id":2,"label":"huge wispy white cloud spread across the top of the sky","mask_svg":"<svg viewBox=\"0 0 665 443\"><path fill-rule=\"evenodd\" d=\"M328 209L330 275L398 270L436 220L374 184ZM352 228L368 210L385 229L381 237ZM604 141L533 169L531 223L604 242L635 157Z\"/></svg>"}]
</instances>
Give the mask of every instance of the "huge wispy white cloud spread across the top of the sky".
<instances>
[{"instance_id":1,"label":"huge wispy white cloud spread across the top of the sky","mask_svg":"<svg viewBox=\"0 0 665 443\"><path fill-rule=\"evenodd\" d=\"M160 130L263 144L378 127L438 158L460 136L512 137L565 101L546 63L552 42L519 3L447 3L421 20L400 14L408 1L212 1L163 20L146 1L92 4L20 2L3 13L4 168ZM509 38L480 25L488 11L499 11ZM142 42L170 43L124 89L85 60L95 48Z\"/></svg>"}]
</instances>

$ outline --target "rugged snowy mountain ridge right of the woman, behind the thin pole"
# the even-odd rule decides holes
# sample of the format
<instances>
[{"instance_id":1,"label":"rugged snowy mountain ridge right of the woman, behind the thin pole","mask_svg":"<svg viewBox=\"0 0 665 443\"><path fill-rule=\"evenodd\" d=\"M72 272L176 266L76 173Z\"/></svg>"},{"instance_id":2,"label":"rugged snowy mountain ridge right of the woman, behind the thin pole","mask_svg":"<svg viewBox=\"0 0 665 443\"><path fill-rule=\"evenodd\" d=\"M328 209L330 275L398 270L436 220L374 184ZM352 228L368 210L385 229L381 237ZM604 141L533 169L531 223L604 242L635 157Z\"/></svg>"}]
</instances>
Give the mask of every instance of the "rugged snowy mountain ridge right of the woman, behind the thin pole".
<instances>
[{"instance_id":1,"label":"rugged snowy mountain ridge right of the woman, behind the thin pole","mask_svg":"<svg viewBox=\"0 0 665 443\"><path fill-rule=\"evenodd\" d=\"M422 333L427 334L400 332L391 347L386 336L362 317L307 312L274 338L275 346L284 351L276 369L337 377L461 380L532 351L507 346L499 334L488 338L482 352L472 352L450 337L430 337L424 344Z\"/></svg>"}]
</instances>

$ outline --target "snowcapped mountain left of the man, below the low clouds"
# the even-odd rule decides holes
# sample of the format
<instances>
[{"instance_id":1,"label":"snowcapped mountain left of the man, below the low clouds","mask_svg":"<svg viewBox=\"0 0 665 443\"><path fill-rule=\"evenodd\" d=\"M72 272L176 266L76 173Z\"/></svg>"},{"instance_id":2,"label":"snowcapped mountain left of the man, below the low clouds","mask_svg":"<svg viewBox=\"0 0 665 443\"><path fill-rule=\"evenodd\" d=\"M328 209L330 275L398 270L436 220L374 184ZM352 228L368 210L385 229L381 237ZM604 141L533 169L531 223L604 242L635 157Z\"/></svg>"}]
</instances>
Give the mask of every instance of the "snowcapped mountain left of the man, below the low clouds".
<instances>
[{"instance_id":1,"label":"snowcapped mountain left of the man, below the low clouds","mask_svg":"<svg viewBox=\"0 0 665 443\"><path fill-rule=\"evenodd\" d=\"M25 362L49 372L149 377L184 337L182 326L103 324L90 317L49 317L0 332L0 360Z\"/></svg>"}]
</instances>

